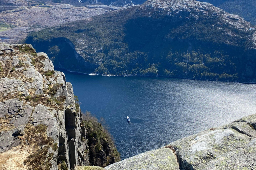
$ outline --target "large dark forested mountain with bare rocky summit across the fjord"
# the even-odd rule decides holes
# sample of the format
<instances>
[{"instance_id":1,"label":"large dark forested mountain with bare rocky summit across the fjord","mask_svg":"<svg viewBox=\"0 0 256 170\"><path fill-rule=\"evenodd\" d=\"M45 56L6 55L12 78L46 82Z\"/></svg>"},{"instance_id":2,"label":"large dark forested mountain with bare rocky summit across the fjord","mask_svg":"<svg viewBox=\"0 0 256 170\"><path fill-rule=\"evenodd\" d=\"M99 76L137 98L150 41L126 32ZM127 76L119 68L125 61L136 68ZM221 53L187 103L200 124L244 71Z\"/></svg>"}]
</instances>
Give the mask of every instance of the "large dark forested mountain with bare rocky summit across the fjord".
<instances>
[{"instance_id":1,"label":"large dark forested mountain with bare rocky summit across the fjord","mask_svg":"<svg viewBox=\"0 0 256 170\"><path fill-rule=\"evenodd\" d=\"M209 3L150 0L32 33L26 42L72 71L254 81L254 32L239 16ZM69 44L74 52L66 50ZM79 68L69 63L75 62L71 56Z\"/></svg>"}]
</instances>

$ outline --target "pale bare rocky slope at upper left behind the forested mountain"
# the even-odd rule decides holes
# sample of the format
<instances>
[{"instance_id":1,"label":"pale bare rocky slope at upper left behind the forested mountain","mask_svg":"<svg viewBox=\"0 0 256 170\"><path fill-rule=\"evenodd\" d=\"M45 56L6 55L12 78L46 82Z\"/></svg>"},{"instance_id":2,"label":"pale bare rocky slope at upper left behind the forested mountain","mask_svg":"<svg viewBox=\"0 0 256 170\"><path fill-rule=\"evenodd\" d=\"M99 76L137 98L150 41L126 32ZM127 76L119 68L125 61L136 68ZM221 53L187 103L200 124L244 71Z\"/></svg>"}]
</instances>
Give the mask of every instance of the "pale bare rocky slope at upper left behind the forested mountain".
<instances>
[{"instance_id":1,"label":"pale bare rocky slope at upper left behind the forested mountain","mask_svg":"<svg viewBox=\"0 0 256 170\"><path fill-rule=\"evenodd\" d=\"M75 7L69 4L59 4L52 8L40 6L22 7L21 10L3 11L0 13L0 38L2 42L17 43L23 40L32 31L39 31L47 27L60 24L90 19L108 11L118 10L121 7L106 5L90 5L87 7ZM7 28L1 30L1 22ZM5 31L6 30L6 31Z\"/></svg>"}]
</instances>

